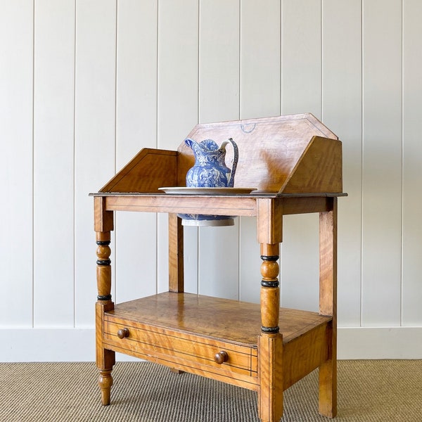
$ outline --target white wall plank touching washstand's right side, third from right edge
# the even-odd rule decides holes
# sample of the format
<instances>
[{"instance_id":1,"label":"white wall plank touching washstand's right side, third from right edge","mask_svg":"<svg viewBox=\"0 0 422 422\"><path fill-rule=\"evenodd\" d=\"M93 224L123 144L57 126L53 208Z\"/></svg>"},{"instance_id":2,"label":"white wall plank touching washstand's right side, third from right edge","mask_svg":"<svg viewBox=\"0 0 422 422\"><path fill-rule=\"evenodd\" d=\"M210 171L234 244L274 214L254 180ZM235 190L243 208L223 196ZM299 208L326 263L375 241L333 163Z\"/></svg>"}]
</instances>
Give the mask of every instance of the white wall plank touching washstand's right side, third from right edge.
<instances>
[{"instance_id":1,"label":"white wall plank touching washstand's right side, third from right edge","mask_svg":"<svg viewBox=\"0 0 422 422\"><path fill-rule=\"evenodd\" d=\"M338 319L361 319L362 2L324 0L322 116L343 142L343 191L338 200Z\"/></svg>"}]
</instances>

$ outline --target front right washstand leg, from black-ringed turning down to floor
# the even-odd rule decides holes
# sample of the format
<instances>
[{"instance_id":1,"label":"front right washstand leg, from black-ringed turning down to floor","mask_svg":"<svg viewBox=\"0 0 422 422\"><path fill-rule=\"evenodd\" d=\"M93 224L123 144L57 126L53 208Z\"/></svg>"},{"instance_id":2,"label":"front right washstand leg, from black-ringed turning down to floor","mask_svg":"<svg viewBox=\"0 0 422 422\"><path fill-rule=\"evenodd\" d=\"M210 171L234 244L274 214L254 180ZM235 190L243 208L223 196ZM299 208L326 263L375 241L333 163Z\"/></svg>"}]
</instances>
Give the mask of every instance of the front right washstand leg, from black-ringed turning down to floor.
<instances>
[{"instance_id":1,"label":"front right washstand leg, from black-ringed turning down to floor","mask_svg":"<svg viewBox=\"0 0 422 422\"><path fill-rule=\"evenodd\" d=\"M279 422L283 416L283 337L279 328L279 244L261 245L261 335L258 339L262 422Z\"/></svg>"}]
</instances>

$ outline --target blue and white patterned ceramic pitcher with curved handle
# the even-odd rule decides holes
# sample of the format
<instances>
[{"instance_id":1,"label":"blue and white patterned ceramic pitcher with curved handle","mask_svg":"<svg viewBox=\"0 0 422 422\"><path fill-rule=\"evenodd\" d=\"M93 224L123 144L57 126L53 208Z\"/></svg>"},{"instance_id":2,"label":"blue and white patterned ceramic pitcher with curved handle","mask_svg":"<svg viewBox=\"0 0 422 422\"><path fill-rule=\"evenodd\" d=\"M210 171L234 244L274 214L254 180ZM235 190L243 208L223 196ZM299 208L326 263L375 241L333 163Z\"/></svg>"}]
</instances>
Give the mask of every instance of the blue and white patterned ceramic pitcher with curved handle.
<instances>
[{"instance_id":1,"label":"blue and white patterned ceramic pitcher with curved handle","mask_svg":"<svg viewBox=\"0 0 422 422\"><path fill-rule=\"evenodd\" d=\"M226 145L231 143L234 160L231 170L226 166ZM233 188L238 163L238 146L233 139L224 141L219 147L212 139L202 142L185 139L195 155L195 165L186 174L186 186L193 188Z\"/></svg>"}]
</instances>

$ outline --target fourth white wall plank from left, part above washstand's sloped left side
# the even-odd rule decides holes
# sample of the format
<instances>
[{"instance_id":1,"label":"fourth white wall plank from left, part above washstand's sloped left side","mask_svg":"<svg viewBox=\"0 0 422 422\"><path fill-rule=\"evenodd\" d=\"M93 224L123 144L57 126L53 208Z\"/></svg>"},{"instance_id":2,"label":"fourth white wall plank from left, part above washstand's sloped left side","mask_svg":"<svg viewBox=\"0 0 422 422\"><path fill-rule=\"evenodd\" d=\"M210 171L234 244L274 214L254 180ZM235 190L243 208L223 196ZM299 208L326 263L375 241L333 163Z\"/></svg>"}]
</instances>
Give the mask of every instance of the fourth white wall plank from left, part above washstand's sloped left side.
<instances>
[{"instance_id":1,"label":"fourth white wall plank from left, part above washstand's sloped left side","mask_svg":"<svg viewBox=\"0 0 422 422\"><path fill-rule=\"evenodd\" d=\"M117 170L157 146L158 0L117 9Z\"/></svg>"}]
</instances>

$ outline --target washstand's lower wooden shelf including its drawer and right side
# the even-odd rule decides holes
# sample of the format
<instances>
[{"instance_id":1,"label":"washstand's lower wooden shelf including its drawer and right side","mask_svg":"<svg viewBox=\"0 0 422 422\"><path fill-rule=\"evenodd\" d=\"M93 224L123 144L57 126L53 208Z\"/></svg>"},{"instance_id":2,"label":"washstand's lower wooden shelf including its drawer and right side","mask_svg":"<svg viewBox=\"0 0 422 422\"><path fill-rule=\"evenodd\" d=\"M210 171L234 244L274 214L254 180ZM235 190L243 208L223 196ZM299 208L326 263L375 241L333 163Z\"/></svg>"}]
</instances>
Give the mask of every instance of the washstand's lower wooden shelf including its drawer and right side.
<instances>
[{"instance_id":1,"label":"washstand's lower wooden shelf including its drawer and right side","mask_svg":"<svg viewBox=\"0 0 422 422\"><path fill-rule=\"evenodd\" d=\"M260 305L167 292L105 312L103 342L116 352L257 390L260 326ZM331 316L281 308L285 389L327 359L330 328ZM226 361L217 363L220 352Z\"/></svg>"}]
</instances>

